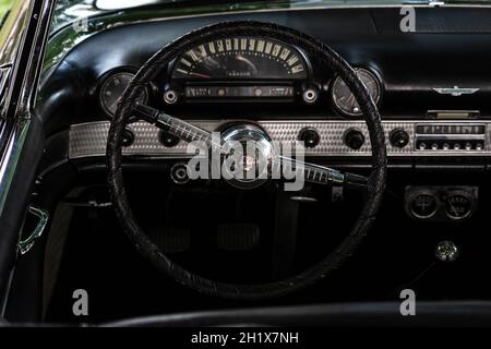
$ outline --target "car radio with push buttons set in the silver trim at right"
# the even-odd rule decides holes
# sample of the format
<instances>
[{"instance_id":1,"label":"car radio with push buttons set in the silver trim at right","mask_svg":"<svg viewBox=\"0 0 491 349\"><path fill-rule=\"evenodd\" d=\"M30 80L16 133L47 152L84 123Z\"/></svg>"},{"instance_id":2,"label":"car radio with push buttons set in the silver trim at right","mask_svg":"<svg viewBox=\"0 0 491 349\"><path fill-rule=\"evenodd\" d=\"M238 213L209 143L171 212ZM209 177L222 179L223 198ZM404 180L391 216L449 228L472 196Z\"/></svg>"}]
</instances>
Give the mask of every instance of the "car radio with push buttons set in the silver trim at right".
<instances>
[{"instance_id":1,"label":"car radio with push buttons set in the silver trim at right","mask_svg":"<svg viewBox=\"0 0 491 349\"><path fill-rule=\"evenodd\" d=\"M482 151L483 123L420 123L415 128L417 151Z\"/></svg>"}]
</instances>

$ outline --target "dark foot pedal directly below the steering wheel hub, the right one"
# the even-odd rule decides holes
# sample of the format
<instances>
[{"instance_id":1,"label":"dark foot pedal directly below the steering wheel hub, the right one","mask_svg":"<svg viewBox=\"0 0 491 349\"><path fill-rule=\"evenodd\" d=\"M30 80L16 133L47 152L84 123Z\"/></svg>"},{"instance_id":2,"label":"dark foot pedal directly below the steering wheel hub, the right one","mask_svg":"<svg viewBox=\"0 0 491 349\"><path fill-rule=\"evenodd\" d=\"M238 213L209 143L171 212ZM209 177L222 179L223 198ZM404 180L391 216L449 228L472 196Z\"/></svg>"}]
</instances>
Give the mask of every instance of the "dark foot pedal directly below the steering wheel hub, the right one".
<instances>
[{"instance_id":1,"label":"dark foot pedal directly below the steering wheel hub, the right one","mask_svg":"<svg viewBox=\"0 0 491 349\"><path fill-rule=\"evenodd\" d=\"M252 250L260 239L260 228L253 224L221 225L217 228L216 243L221 250Z\"/></svg>"}]
</instances>

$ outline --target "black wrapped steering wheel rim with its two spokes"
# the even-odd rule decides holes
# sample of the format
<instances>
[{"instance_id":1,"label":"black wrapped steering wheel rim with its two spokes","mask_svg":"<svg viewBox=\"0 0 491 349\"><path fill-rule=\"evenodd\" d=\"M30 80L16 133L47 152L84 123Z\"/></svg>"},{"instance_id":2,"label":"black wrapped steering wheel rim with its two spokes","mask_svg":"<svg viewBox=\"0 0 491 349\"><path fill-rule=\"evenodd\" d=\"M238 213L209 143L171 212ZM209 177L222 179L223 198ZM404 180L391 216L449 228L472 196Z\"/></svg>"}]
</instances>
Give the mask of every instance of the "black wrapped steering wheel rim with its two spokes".
<instances>
[{"instance_id":1,"label":"black wrapped steering wheel rim with its two spokes","mask_svg":"<svg viewBox=\"0 0 491 349\"><path fill-rule=\"evenodd\" d=\"M372 169L371 174L368 178L351 173L342 173L334 169L302 163L302 166L306 166L308 169L311 168L320 171L319 176L322 179L322 183L361 185L363 190L366 190L364 205L349 233L346 234L340 244L320 263L292 277L261 285L232 285L212 280L195 275L173 263L154 242L151 241L151 239L148 239L137 224L128 201L121 169L121 147L124 128L130 117L135 113L145 121L165 129L166 131L180 136L184 141L193 141L196 140L196 136L204 137L208 134L204 130L197 129L183 120L173 118L151 107L139 105L136 100L143 86L147 85L157 75L159 70L178 57L178 55L190 50L199 44L207 43L207 40L224 39L230 36L255 36L276 39L300 47L311 57L316 57L320 61L325 63L326 67L344 80L355 95L364 116L370 133L372 149ZM182 132L182 128L188 132ZM190 134L196 136L192 137ZM209 296L236 300L259 300L298 291L324 278L331 272L336 269L344 261L350 257L369 231L379 212L385 190L387 168L385 137L378 108L363 83L348 62L332 48L318 39L291 28L260 22L227 22L206 26L180 37L176 41L161 48L148 59L125 89L116 115L111 120L107 139L106 156L108 169L107 183L112 204L124 232L128 234L137 252L148 258L158 269L183 286ZM306 173L308 171L306 171ZM322 174L324 174L324 177ZM313 177L313 179L318 179L318 182L319 176ZM312 180L312 177L307 176L306 180L309 179Z\"/></svg>"}]
</instances>

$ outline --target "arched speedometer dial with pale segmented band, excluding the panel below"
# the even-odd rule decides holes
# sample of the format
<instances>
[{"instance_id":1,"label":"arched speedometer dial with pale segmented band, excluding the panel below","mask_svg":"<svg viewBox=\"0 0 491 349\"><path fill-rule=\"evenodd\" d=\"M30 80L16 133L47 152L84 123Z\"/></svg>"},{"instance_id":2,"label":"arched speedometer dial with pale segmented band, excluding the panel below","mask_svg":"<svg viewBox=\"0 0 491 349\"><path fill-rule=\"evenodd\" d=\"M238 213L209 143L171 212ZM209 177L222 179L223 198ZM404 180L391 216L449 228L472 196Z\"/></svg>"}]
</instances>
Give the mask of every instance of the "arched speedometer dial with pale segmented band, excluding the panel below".
<instances>
[{"instance_id":1,"label":"arched speedometer dial with pale segmented band, excluding the panel below","mask_svg":"<svg viewBox=\"0 0 491 349\"><path fill-rule=\"evenodd\" d=\"M302 52L260 37L230 37L205 43L178 58L173 79L302 80L308 67Z\"/></svg>"}]
</instances>

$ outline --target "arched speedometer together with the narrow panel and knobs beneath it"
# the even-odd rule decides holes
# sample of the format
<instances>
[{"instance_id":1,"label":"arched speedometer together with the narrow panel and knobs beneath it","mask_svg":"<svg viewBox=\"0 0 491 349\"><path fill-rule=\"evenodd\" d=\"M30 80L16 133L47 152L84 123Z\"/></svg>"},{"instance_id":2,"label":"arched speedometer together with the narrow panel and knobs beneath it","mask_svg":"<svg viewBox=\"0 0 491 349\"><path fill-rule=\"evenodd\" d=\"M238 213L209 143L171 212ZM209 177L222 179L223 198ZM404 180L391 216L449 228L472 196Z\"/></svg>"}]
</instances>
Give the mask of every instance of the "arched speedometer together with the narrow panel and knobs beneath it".
<instances>
[{"instance_id":1,"label":"arched speedometer together with the narrow panel and knobs beneath it","mask_svg":"<svg viewBox=\"0 0 491 349\"><path fill-rule=\"evenodd\" d=\"M307 91L313 91L316 98L312 81L311 63L299 48L261 37L220 38L176 59L164 101L291 103Z\"/></svg>"}]
</instances>

